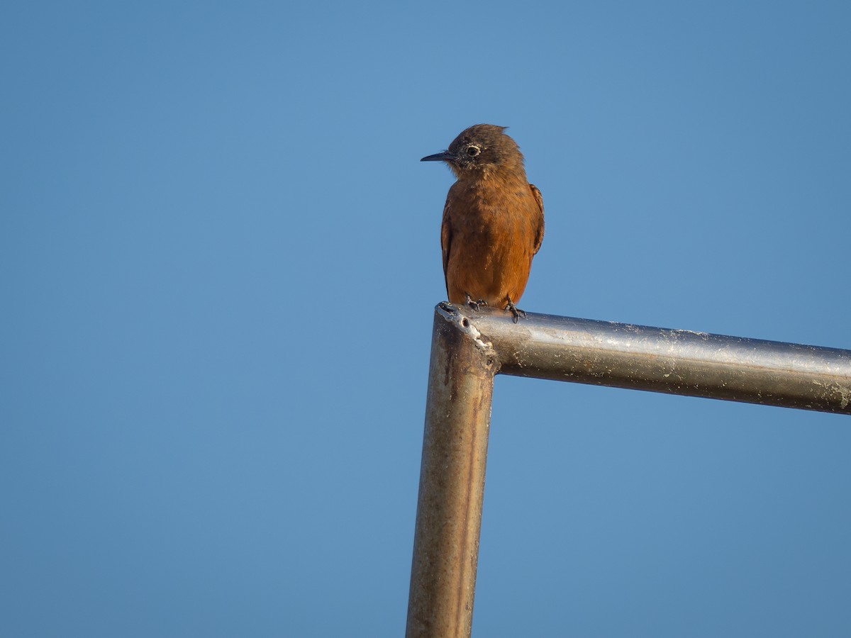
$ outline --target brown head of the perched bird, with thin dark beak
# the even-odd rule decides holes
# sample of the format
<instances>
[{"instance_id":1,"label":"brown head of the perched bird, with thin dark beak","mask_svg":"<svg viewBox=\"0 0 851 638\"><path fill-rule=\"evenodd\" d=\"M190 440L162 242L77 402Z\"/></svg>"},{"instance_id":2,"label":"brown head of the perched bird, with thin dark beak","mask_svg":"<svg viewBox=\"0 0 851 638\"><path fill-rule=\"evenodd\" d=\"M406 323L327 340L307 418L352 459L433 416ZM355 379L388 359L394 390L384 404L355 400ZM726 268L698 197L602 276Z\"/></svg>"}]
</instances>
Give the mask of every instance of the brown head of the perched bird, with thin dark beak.
<instances>
[{"instance_id":1,"label":"brown head of the perched bird, with thin dark beak","mask_svg":"<svg viewBox=\"0 0 851 638\"><path fill-rule=\"evenodd\" d=\"M420 162L446 162L459 179L494 171L523 172L523 154L517 142L505 134L504 126L476 124L465 128L442 153Z\"/></svg>"}]
</instances>

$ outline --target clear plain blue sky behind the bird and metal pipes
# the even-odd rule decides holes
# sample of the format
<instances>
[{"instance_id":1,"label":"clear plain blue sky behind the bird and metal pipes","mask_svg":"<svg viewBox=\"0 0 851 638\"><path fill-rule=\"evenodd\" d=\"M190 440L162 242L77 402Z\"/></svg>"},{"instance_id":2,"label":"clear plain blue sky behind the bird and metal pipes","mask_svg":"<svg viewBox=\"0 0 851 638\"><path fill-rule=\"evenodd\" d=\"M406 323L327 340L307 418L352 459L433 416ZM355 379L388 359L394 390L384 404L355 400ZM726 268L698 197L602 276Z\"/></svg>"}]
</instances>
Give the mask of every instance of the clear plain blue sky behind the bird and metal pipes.
<instances>
[{"instance_id":1,"label":"clear plain blue sky behind the bird and metal pipes","mask_svg":"<svg viewBox=\"0 0 851 638\"><path fill-rule=\"evenodd\" d=\"M449 171L521 307L851 349L851 5L7 3L0 635L403 635ZM498 378L474 635L851 635L851 419Z\"/></svg>"}]
</instances>

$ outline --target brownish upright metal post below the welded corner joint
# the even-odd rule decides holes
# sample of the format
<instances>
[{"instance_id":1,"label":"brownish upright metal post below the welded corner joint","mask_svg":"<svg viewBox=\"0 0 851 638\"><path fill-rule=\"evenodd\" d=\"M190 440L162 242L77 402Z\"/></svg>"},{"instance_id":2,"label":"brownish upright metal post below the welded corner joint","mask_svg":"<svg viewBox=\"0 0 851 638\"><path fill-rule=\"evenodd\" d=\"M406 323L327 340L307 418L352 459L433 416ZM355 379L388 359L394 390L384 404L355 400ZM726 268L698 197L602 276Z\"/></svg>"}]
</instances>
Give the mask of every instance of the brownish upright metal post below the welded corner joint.
<instances>
[{"instance_id":1,"label":"brownish upright metal post below the welded corner joint","mask_svg":"<svg viewBox=\"0 0 851 638\"><path fill-rule=\"evenodd\" d=\"M426 430L407 638L468 638L494 373L499 362L460 313L438 306L431 339Z\"/></svg>"}]
</instances>

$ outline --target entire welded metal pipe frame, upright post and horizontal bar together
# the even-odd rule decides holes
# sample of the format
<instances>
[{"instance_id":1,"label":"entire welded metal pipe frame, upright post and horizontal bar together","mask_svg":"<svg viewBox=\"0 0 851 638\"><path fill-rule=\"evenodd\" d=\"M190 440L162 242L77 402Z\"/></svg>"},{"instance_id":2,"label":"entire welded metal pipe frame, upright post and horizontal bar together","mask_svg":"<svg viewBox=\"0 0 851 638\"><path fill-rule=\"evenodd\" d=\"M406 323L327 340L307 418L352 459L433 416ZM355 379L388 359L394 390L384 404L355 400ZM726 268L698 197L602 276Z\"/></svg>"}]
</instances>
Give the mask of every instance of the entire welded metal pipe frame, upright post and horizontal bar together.
<instances>
[{"instance_id":1,"label":"entire welded metal pipe frame, upright post and horizontal bar together","mask_svg":"<svg viewBox=\"0 0 851 638\"><path fill-rule=\"evenodd\" d=\"M471 632L495 373L851 414L851 350L438 305L408 638Z\"/></svg>"}]
</instances>

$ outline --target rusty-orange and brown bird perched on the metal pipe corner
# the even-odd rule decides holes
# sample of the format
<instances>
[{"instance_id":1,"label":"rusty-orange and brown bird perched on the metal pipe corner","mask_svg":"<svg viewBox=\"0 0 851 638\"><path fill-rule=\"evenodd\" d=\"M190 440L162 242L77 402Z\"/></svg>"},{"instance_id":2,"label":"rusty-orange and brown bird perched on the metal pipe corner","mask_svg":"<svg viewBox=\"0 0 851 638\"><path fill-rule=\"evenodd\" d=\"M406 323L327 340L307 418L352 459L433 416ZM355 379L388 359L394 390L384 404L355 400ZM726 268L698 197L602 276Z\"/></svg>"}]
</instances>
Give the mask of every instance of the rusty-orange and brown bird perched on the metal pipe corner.
<instances>
[{"instance_id":1,"label":"rusty-orange and brown bird perched on the metal pipe corner","mask_svg":"<svg viewBox=\"0 0 851 638\"><path fill-rule=\"evenodd\" d=\"M420 162L446 162L455 176L440 229L449 302L495 306L517 323L526 316L517 302L544 239L544 201L505 128L475 124Z\"/></svg>"}]
</instances>

